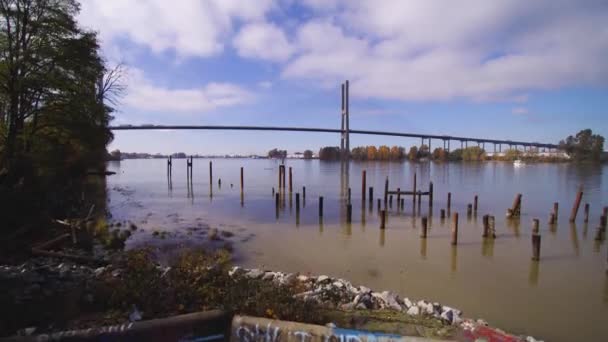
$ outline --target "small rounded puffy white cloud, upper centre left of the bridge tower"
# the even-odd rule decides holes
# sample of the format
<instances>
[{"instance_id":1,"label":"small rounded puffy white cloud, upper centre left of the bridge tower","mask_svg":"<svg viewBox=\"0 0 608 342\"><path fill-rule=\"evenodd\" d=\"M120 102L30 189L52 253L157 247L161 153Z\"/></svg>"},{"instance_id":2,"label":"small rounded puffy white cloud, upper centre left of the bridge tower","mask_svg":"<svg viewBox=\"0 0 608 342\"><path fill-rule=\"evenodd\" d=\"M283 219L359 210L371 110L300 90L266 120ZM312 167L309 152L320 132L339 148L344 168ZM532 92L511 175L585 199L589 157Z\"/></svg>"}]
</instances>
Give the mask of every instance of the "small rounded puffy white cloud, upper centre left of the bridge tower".
<instances>
[{"instance_id":1,"label":"small rounded puffy white cloud, upper centre left of the bridge tower","mask_svg":"<svg viewBox=\"0 0 608 342\"><path fill-rule=\"evenodd\" d=\"M293 51L285 33L272 23L254 23L244 26L233 40L241 57L284 61Z\"/></svg>"}]
</instances>

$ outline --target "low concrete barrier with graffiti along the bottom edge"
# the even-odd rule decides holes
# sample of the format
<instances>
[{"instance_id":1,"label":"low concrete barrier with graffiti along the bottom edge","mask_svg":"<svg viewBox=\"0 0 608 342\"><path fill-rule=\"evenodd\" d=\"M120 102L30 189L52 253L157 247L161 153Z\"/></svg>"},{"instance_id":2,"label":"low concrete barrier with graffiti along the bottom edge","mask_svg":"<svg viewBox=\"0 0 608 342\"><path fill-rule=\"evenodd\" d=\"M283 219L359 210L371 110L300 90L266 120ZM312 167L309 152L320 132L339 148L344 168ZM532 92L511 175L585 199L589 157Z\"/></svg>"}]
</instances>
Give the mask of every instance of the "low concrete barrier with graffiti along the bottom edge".
<instances>
[{"instance_id":1,"label":"low concrete barrier with graffiti along the bottom edge","mask_svg":"<svg viewBox=\"0 0 608 342\"><path fill-rule=\"evenodd\" d=\"M435 340L259 317L233 317L229 313L218 310L86 330L0 339L0 342L9 341L424 342Z\"/></svg>"}]
</instances>

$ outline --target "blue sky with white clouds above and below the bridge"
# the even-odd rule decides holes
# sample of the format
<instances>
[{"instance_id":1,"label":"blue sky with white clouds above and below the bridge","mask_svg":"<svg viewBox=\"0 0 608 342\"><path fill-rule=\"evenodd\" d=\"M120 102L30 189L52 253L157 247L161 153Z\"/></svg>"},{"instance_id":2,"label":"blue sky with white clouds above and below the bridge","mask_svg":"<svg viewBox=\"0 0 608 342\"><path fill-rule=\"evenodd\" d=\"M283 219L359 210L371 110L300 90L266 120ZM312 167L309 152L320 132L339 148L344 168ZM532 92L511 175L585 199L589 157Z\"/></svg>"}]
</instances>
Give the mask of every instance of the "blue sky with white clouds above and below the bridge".
<instances>
[{"instance_id":1,"label":"blue sky with white clouds above and below the bridge","mask_svg":"<svg viewBox=\"0 0 608 342\"><path fill-rule=\"evenodd\" d=\"M98 32L109 66L125 66L113 125L339 128L349 80L351 129L608 137L605 0L81 0L78 21ZM108 149L339 143L331 133L120 131ZM420 141L351 135L351 147L382 144Z\"/></svg>"}]
</instances>

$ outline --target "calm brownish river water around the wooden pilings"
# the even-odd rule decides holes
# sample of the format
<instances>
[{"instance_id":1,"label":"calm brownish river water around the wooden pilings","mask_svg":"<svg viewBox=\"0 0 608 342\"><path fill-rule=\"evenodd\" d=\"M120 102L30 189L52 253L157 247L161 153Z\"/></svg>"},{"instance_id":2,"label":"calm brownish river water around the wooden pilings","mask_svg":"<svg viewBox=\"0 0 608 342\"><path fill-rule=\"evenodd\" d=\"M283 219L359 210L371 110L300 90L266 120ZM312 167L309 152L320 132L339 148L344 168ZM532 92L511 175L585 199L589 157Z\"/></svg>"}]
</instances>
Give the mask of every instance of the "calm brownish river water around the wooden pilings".
<instances>
[{"instance_id":1,"label":"calm brownish river water around the wooden pilings","mask_svg":"<svg viewBox=\"0 0 608 342\"><path fill-rule=\"evenodd\" d=\"M194 161L194 182L186 186L185 160L174 160L169 186L164 160L112 163L110 211L144 228L130 246L158 238L153 230L172 231L163 241L196 244L204 237L188 228L206 223L231 230L237 262L286 272L327 274L376 290L392 290L411 299L428 299L459 308L467 317L483 318L509 332L548 341L608 340L608 274L606 243L594 241L601 208L607 205L608 167L569 164L510 163L340 163L288 160L293 168L289 193L278 218L272 188L278 185L278 162L265 159L214 160L210 193L208 160ZM245 168L241 202L240 167ZM362 208L361 171L374 187L374 204ZM429 213L426 198L420 212L391 210L387 229L380 230L376 199L388 176L391 189L419 188L434 182L429 236L420 238L420 215ZM218 187L218 178L222 187ZM287 180L289 182L289 180ZM230 184L234 186L231 187ZM584 188L576 224L568 216L578 187ZM295 193L306 186L304 207L297 217ZM346 223L345 198L352 188L353 222ZM450 221L442 221L446 194L452 212L460 214L458 246L450 245ZM523 194L522 217L506 220L516 193ZM479 195L477 215L466 206ZM324 196L324 218L318 197ZM558 224L547 224L553 202L559 202ZM591 205L583 223L583 205ZM482 216L496 216L497 238L481 237ZM541 261L531 260L531 221L541 220ZM156 241L158 243L158 241Z\"/></svg>"}]
</instances>

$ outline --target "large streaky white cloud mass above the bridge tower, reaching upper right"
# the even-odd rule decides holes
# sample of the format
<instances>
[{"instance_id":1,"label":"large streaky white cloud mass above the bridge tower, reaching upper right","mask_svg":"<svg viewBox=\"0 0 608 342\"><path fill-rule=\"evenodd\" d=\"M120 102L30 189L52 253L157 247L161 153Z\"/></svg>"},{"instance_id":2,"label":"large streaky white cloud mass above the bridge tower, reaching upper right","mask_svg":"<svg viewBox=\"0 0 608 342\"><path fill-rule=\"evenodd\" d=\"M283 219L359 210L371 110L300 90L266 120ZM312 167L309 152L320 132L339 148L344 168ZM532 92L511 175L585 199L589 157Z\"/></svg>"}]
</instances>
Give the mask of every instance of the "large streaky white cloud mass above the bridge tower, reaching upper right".
<instances>
[{"instance_id":1,"label":"large streaky white cloud mass above the bridge tower, reaching upper right","mask_svg":"<svg viewBox=\"0 0 608 342\"><path fill-rule=\"evenodd\" d=\"M608 81L606 3L343 1L294 37L282 76L353 96L520 102L531 90Z\"/></svg>"}]
</instances>

